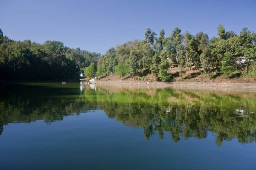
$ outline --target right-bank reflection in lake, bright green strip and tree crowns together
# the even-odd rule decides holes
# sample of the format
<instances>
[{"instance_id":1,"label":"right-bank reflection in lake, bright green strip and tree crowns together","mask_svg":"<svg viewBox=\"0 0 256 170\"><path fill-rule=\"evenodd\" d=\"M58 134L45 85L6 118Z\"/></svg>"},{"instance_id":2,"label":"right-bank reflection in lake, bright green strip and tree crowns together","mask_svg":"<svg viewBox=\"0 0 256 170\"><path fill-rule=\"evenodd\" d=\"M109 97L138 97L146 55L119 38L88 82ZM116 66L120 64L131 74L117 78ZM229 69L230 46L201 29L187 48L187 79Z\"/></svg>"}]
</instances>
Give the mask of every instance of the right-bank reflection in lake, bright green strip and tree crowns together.
<instances>
[{"instance_id":1,"label":"right-bank reflection in lake, bright green strip and tree crowns together","mask_svg":"<svg viewBox=\"0 0 256 170\"><path fill-rule=\"evenodd\" d=\"M255 142L255 97L195 95L171 89L156 90L151 96L144 94L108 91L108 95L99 95L97 100L108 117L115 117L124 125L142 127L145 140L156 131L160 139L169 133L174 142L180 138L205 139L210 131L216 135L218 146L234 138L241 143ZM243 108L243 112L239 113L238 108Z\"/></svg>"}]
</instances>

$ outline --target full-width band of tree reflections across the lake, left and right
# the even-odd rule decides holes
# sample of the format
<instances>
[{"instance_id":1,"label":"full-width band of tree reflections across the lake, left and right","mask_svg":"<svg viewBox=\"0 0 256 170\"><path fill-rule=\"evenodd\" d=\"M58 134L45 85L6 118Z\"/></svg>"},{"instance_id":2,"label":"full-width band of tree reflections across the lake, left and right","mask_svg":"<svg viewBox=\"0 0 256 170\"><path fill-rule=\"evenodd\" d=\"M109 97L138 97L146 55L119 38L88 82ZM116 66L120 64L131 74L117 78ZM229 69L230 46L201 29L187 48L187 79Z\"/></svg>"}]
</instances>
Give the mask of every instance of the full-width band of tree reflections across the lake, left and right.
<instances>
[{"instance_id":1,"label":"full-width band of tree reflections across the lake, left and right","mask_svg":"<svg viewBox=\"0 0 256 170\"><path fill-rule=\"evenodd\" d=\"M43 119L51 124L64 116L101 109L124 125L141 127L145 140L156 133L160 139L169 133L174 142L191 137L205 139L210 131L218 146L234 138L240 143L255 142L255 96L168 88L112 91L99 87L96 91L30 87L27 94L23 88L0 98L0 133L10 122Z\"/></svg>"}]
</instances>

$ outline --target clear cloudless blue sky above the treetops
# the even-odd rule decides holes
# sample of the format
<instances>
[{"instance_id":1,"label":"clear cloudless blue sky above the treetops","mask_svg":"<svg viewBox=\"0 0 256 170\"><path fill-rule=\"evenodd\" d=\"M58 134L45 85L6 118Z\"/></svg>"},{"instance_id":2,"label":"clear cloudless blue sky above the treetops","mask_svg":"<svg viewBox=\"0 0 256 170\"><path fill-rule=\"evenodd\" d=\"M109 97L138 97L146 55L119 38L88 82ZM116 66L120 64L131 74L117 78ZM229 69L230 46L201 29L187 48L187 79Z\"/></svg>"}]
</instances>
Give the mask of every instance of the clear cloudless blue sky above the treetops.
<instances>
[{"instance_id":1,"label":"clear cloudless blue sky above the treetops","mask_svg":"<svg viewBox=\"0 0 256 170\"><path fill-rule=\"evenodd\" d=\"M213 37L218 24L237 34L256 31L256 0L0 0L0 28L10 39L57 40L101 54L143 40L148 27Z\"/></svg>"}]
</instances>

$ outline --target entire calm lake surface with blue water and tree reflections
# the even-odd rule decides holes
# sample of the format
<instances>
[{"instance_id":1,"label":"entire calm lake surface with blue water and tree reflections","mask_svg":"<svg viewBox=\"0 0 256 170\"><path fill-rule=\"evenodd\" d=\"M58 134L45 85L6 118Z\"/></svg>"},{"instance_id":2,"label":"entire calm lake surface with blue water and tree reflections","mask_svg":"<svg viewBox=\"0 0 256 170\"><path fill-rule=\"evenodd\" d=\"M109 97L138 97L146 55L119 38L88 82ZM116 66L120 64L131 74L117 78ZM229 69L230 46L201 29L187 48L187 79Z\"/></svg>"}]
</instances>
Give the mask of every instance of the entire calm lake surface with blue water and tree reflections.
<instances>
[{"instance_id":1,"label":"entire calm lake surface with blue water and tree reflections","mask_svg":"<svg viewBox=\"0 0 256 170\"><path fill-rule=\"evenodd\" d=\"M2 85L0 170L255 170L256 93Z\"/></svg>"}]
</instances>

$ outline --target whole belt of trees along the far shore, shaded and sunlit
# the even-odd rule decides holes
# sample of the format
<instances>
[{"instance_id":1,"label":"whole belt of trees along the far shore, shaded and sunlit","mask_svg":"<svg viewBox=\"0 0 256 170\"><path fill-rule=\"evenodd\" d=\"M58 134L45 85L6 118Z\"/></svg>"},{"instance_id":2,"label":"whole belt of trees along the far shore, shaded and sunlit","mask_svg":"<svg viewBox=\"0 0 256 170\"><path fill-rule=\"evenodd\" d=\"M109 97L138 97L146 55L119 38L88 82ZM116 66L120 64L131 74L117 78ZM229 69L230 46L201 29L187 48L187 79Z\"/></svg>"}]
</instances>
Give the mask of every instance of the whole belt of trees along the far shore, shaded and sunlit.
<instances>
[{"instance_id":1,"label":"whole belt of trees along the far shore, shaded and sunlit","mask_svg":"<svg viewBox=\"0 0 256 170\"><path fill-rule=\"evenodd\" d=\"M202 31L192 35L176 27L169 36L163 29L157 36L146 28L144 40L128 41L101 55L68 48L59 41L14 41L0 30L0 79L76 79L84 72L88 77L118 75L122 79L149 73L157 81L171 81L172 68L178 68L181 78L189 70L210 78L256 77L256 33L243 28L238 35L223 25L217 33L210 39Z\"/></svg>"}]
</instances>

